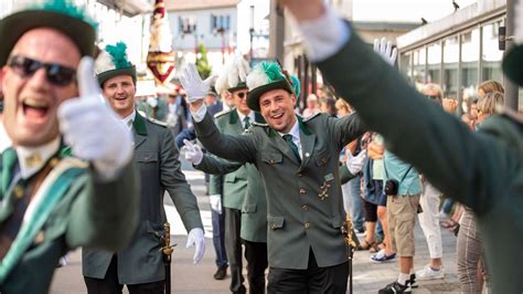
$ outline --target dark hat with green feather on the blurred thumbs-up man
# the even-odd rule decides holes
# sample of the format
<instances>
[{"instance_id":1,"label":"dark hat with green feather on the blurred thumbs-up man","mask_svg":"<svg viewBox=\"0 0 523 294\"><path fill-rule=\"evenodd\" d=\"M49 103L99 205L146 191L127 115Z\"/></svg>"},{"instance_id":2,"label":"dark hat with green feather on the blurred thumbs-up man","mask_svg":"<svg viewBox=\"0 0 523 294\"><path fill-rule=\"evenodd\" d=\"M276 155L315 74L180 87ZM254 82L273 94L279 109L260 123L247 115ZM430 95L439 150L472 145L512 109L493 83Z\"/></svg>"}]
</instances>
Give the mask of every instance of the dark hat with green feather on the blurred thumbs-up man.
<instances>
[{"instance_id":1,"label":"dark hat with green feather on the blurred thumbs-up man","mask_svg":"<svg viewBox=\"0 0 523 294\"><path fill-rule=\"evenodd\" d=\"M47 0L30 6L0 20L0 67L6 65L18 40L36 28L51 28L67 35L78 48L82 56L93 56L96 29L85 9L70 0Z\"/></svg>"}]
</instances>

